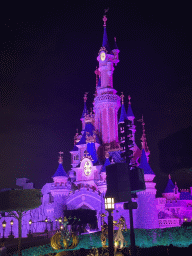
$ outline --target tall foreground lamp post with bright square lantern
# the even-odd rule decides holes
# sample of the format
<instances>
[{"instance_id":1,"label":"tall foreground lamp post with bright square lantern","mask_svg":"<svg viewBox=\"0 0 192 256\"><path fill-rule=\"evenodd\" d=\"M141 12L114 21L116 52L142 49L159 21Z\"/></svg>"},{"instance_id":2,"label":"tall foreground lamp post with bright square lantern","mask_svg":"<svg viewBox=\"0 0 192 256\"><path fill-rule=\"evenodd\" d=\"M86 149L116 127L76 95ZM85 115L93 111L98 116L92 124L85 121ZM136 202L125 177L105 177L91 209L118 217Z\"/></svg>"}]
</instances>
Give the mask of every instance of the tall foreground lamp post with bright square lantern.
<instances>
[{"instance_id":1,"label":"tall foreground lamp post with bright square lantern","mask_svg":"<svg viewBox=\"0 0 192 256\"><path fill-rule=\"evenodd\" d=\"M105 210L109 212L108 215L108 244L109 244L109 256L114 256L114 242L113 242L113 216L114 210L114 198L105 197Z\"/></svg>"}]
</instances>

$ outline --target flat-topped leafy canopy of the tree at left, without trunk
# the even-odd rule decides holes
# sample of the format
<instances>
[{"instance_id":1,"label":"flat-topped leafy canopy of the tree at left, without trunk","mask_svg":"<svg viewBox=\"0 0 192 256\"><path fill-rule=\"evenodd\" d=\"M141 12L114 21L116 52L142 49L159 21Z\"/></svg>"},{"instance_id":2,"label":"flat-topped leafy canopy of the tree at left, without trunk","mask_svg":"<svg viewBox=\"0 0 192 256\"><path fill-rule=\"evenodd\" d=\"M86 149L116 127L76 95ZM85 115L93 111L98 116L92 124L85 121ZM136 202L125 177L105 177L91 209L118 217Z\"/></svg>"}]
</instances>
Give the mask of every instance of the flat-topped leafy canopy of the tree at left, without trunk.
<instances>
[{"instance_id":1,"label":"flat-topped leafy canopy of the tree at left, without trunk","mask_svg":"<svg viewBox=\"0 0 192 256\"><path fill-rule=\"evenodd\" d=\"M0 193L0 211L28 211L41 205L40 189L8 190Z\"/></svg>"}]
</instances>

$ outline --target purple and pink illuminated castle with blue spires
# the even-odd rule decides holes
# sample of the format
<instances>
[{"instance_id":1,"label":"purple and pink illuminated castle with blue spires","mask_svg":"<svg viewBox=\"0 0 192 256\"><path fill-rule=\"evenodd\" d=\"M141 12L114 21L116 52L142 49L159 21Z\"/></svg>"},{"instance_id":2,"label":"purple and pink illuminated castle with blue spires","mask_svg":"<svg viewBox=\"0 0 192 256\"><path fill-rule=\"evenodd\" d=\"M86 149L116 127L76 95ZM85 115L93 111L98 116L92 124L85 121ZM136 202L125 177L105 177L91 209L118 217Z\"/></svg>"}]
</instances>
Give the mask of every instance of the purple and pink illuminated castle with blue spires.
<instances>
[{"instance_id":1,"label":"purple and pink illuminated castle with blue spires","mask_svg":"<svg viewBox=\"0 0 192 256\"><path fill-rule=\"evenodd\" d=\"M140 120L143 128L141 149L135 142L135 116L131 107L131 97L128 97L128 110L125 110L124 95L118 96L113 88L114 67L119 62L119 49L114 41L111 50L106 31L106 16L103 17L104 34L103 44L99 50L96 69L96 92L93 102L93 111L88 111L84 95L84 108L80 118L81 133L74 137L74 147L71 153L71 170L65 172L63 168L62 152L59 155L59 165L53 174L53 182L42 188L42 205L29 211L23 217L23 236L27 236L29 229L32 232L45 230L44 220L48 219L48 229L56 229L55 219L64 216L64 210L90 209L97 217L97 228L101 228L101 214L105 213L104 197L107 190L106 166L123 162L118 138L118 124L129 119L132 123L133 161L143 169L146 190L136 193L133 201L138 208L133 210L135 228L153 229L180 226L184 220L192 218L192 188L191 191L179 192L169 176L167 187L162 198L156 198L155 174L149 166L150 151L147 146L145 123ZM119 118L118 118L119 113ZM17 185L31 189L32 185L26 179L18 179ZM114 210L114 219L124 216L129 227L129 211L123 209L123 203L117 203ZM6 217L9 223L11 217ZM29 220L32 220L31 227ZM13 226L17 236L17 221ZM1 225L0 228L2 229ZM6 228L5 236L10 232ZM2 230L0 231L2 234Z\"/></svg>"}]
</instances>

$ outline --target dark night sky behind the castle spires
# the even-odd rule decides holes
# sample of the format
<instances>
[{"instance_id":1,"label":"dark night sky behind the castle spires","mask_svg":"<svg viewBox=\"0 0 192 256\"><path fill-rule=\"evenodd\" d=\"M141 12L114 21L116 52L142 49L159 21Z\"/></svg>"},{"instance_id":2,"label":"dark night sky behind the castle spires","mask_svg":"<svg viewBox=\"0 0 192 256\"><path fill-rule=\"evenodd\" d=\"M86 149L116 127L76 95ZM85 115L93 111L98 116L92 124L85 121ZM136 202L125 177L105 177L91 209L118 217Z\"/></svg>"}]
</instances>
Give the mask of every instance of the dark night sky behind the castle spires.
<instances>
[{"instance_id":1,"label":"dark night sky behind the castle spires","mask_svg":"<svg viewBox=\"0 0 192 256\"><path fill-rule=\"evenodd\" d=\"M144 115L150 165L158 175L158 141L192 125L190 3L64 2L1 8L0 188L15 187L19 177L36 188L52 182L59 151L70 169L84 92L92 107L108 7L109 42L116 36L120 49L114 88L131 95L136 120Z\"/></svg>"}]
</instances>

